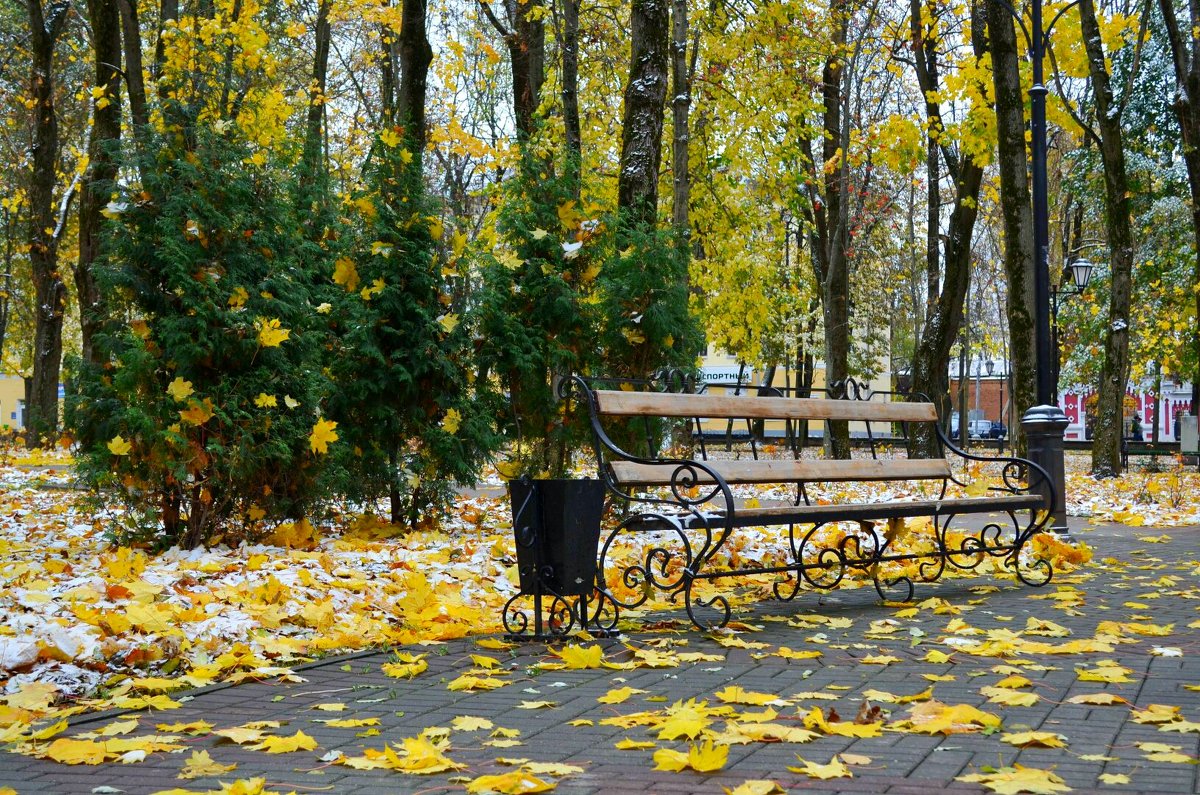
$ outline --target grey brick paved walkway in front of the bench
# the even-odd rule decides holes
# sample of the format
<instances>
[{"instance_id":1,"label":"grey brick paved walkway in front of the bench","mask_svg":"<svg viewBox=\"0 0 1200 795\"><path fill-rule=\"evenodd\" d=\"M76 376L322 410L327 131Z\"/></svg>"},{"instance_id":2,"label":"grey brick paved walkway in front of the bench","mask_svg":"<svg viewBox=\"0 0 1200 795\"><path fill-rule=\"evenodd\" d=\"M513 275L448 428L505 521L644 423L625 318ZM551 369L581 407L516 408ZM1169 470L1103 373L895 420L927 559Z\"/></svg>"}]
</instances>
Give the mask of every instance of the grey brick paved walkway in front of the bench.
<instances>
[{"instance_id":1,"label":"grey brick paved walkway in front of the bench","mask_svg":"<svg viewBox=\"0 0 1200 795\"><path fill-rule=\"evenodd\" d=\"M1168 544L1147 544L1140 536L1172 538ZM110 787L130 795L155 793L172 788L203 791L216 789L217 782L265 777L270 789L298 793L438 793L462 790L463 777L499 773L511 770L496 761L498 757L520 757L534 761L569 763L583 767L559 779L557 793L720 793L746 779L769 778L784 789L821 793L911 793L930 790L962 793L984 791L978 784L956 782L955 777L979 772L986 766L1014 763L1054 770L1075 791L1142 791L1195 793L1198 765L1147 759L1147 752L1135 743L1158 742L1178 747L1189 757L1200 753L1198 731L1164 733L1157 725L1132 721L1128 706L1090 706L1068 704L1067 699L1085 693L1115 693L1136 707L1150 704L1175 705L1189 721L1200 722L1200 698L1184 689L1200 685L1200 630L1188 624L1200 618L1200 563L1198 542L1200 527L1180 530L1128 528L1102 526L1078 533L1097 550L1097 560L1112 556L1127 566L1099 564L1092 576L1075 581L1063 578L1049 588L1028 588L1000 582L998 591L979 590L986 580L955 580L937 585L918 586L917 600L932 596L964 608L958 616L935 615L922 609L911 618L900 621L894 634L870 636L871 622L892 618L896 610L880 604L870 588L838 592L817 604L817 596L802 594L792 603L761 603L740 618L761 627L745 633L749 641L766 642L772 651L779 646L821 648L816 659L784 659L766 656L756 659L752 650L722 648L714 640L685 623L682 611L678 633L631 633L626 640L635 645L670 636L686 641L674 651L701 651L724 654L724 662L683 663L678 668L612 670L538 671L533 667L546 660L544 647L527 645L511 652L479 648L466 639L427 648L430 668L413 680L385 676L380 667L390 659L385 652L359 654L324 660L299 673L302 683L250 683L238 687L214 687L192 693L182 709L143 716L139 733L152 730L155 723L186 723L205 719L217 728L235 727L252 721L286 722L278 734L290 735L304 730L319 743L317 751L268 755L235 746L208 735L186 740L190 749L208 749L220 763L236 763L234 772L212 778L179 781L176 773L190 752L158 753L140 764L108 764L98 767L66 766L30 759L17 754L0 754L0 788L12 787L20 795L29 793L92 793L97 787ZM1164 575L1174 581L1164 580ZM974 590L972 590L974 587ZM1056 588L1078 588L1070 599L1048 599ZM1066 593L1066 591L1057 591ZM1056 604L1058 605L1056 608ZM1074 605L1074 606L1072 606ZM820 612L829 617L852 621L848 628L788 626L786 620L800 614ZM982 630L1025 628L1030 616L1049 618L1072 629L1074 638L1092 638L1102 621L1141 621L1156 624L1174 623L1174 634L1165 638L1136 638L1111 653L1086 654L1021 654L1022 660L1042 664L1046 670L1024 668L1022 674L1033 680L1032 692L1040 697L1033 706L998 706L985 704L980 687L994 685L1003 673L995 667L1004 659L956 653L948 663L923 662L931 648L950 652L938 642L946 636L949 621L961 618ZM844 623L844 622L842 622ZM1200 626L1200 622L1198 622ZM916 630L916 634L913 633ZM823 636L814 635L821 633ZM924 633L924 634L920 634ZM1064 639L1039 638L1052 642ZM622 641L599 641L610 659L628 657ZM1177 647L1182 656L1153 656L1151 650ZM503 688L475 694L451 692L445 683L472 665L469 654L487 653L503 660L511 673L511 682ZM892 654L902 662L890 665L864 664L866 656ZM1102 659L1112 659L1132 669L1132 683L1081 681L1078 668L1094 668ZM877 688L894 694L924 691L930 681L922 675L950 675L953 681L935 683L935 698L947 704L971 704L1000 715L1003 731L1044 730L1061 734L1064 748L1020 749L1000 741L1000 734L953 734L928 736L884 731L882 736L851 739L822 736L804 745L786 742L754 742L732 746L728 763L716 773L691 771L665 772L653 770L652 749L618 751L614 743L625 737L653 740L644 728L622 729L600 725L600 721L644 710L661 710L679 699L708 699L714 691L738 685L746 691L774 693L792 698L798 693L826 692L836 701L798 698L794 706L781 707L776 722L800 725L800 716L812 706L835 709L851 718L860 706L862 691ZM619 705L599 704L596 698L611 688L629 686L647 691ZM838 689L830 689L838 688ZM840 689L848 688L848 689ZM1030 688L1025 688L1030 691ZM179 698L176 695L176 698ZM658 700L648 701L647 699ZM557 706L540 710L516 709L523 700L552 700ZM314 711L317 704L344 703L340 713ZM908 706L881 704L890 709L892 719L902 717ZM750 710L757 707L738 707ZM364 748L382 748L384 742L413 737L427 727L449 728L455 717L478 716L497 727L520 730L518 746L497 748L482 745L488 731L451 733L448 755L467 765L458 773L408 776L388 770L353 770L344 765L325 764L320 757L341 751L361 755ZM359 728L330 728L318 719L370 718L380 721L378 736L360 737ZM77 718L70 734L95 730L110 722L113 716ZM590 719L593 725L570 725L576 719ZM1198 727L1200 729L1200 727ZM684 742L656 742L658 747L686 749ZM853 778L830 781L810 779L788 772L797 766L797 754L806 760L828 763L833 754L851 753L869 757L869 763L852 764ZM1127 775L1128 784L1108 784L1102 775ZM458 779L455 781L455 776ZM98 790L114 791L114 790Z\"/></svg>"}]
</instances>

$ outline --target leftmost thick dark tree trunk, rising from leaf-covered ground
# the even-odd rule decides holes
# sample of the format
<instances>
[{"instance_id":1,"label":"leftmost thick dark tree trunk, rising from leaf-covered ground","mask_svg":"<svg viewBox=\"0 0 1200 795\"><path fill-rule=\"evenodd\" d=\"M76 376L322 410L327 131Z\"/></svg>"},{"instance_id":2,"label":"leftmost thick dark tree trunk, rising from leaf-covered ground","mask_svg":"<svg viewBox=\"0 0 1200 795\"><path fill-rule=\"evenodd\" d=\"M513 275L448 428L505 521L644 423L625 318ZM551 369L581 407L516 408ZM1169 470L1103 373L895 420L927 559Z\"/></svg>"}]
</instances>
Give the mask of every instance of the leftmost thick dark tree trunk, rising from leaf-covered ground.
<instances>
[{"instance_id":1,"label":"leftmost thick dark tree trunk, rising from leaf-covered ground","mask_svg":"<svg viewBox=\"0 0 1200 795\"><path fill-rule=\"evenodd\" d=\"M29 180L29 264L34 297L34 377L26 405L26 443L53 438L59 425L59 373L62 366L62 313L67 287L59 273L54 185L59 125L54 115L54 44L68 6L26 0L30 28L30 92L34 101L32 173Z\"/></svg>"}]
</instances>

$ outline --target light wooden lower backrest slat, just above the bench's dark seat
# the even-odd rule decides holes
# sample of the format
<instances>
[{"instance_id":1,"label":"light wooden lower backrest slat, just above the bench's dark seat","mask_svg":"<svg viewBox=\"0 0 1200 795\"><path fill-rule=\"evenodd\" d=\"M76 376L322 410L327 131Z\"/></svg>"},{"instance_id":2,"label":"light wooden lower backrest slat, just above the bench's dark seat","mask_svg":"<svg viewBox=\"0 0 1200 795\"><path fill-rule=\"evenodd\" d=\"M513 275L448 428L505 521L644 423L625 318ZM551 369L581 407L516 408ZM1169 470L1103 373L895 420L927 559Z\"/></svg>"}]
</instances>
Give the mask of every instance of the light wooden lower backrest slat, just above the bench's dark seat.
<instances>
[{"instance_id":1,"label":"light wooden lower backrest slat, just above the bench's dark seat","mask_svg":"<svg viewBox=\"0 0 1200 795\"><path fill-rule=\"evenodd\" d=\"M912 480L950 477L950 465L946 459L859 459L803 460L803 461L706 461L726 483L833 483L841 480ZM612 461L613 477L624 485L668 485L679 468L676 464L634 464ZM710 484L713 478L698 467L700 483Z\"/></svg>"}]
</instances>

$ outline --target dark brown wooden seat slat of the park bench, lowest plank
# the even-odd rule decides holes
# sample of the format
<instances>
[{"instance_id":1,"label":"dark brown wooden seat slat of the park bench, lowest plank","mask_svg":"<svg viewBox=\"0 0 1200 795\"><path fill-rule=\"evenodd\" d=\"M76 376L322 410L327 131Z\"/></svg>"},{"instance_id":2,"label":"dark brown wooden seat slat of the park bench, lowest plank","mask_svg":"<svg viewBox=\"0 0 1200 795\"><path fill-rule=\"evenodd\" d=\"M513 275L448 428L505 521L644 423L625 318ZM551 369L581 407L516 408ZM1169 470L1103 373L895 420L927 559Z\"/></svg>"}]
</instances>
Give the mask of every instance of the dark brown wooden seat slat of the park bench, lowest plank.
<instances>
[{"instance_id":1,"label":"dark brown wooden seat slat of the park bench, lowest plank","mask_svg":"<svg viewBox=\"0 0 1200 795\"><path fill-rule=\"evenodd\" d=\"M1040 495L1016 495L1003 497L961 497L954 500L916 500L912 502L868 502L833 506L781 506L774 508L745 508L733 515L734 527L758 525L816 524L833 521L878 521L906 516L931 516L949 514L988 514L1004 510L1025 510L1043 504ZM698 526L692 516L683 515L685 527ZM724 527L721 513L710 514L713 528ZM671 522L660 518L637 522L637 530L670 530Z\"/></svg>"}]
</instances>

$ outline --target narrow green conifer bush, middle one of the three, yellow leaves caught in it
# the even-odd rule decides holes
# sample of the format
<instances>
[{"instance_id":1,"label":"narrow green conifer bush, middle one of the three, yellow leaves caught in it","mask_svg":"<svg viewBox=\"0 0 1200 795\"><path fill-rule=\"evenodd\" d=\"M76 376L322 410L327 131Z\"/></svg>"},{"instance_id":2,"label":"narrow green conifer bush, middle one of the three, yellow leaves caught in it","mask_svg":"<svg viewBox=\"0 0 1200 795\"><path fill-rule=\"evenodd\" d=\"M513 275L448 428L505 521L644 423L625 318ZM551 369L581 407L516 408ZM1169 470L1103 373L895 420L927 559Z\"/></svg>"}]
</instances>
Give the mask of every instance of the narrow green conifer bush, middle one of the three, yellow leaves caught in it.
<instances>
[{"instance_id":1,"label":"narrow green conifer bush, middle one of the three, yellow leaves caught in it","mask_svg":"<svg viewBox=\"0 0 1200 795\"><path fill-rule=\"evenodd\" d=\"M378 136L354 204L356 244L330 275L342 288L329 365L330 413L346 442L340 488L388 498L391 521L415 527L474 482L492 419L472 383L469 323L443 274L442 222L401 127Z\"/></svg>"}]
</instances>

